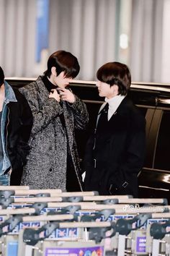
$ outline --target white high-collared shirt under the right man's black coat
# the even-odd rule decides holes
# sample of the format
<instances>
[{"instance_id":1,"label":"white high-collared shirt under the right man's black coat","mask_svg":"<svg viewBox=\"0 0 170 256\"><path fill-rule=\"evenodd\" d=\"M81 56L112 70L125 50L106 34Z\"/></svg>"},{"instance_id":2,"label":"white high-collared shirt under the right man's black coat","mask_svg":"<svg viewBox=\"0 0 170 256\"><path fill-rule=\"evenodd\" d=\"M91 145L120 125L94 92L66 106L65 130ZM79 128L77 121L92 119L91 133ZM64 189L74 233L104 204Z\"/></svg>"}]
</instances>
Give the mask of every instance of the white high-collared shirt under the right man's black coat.
<instances>
[{"instance_id":1,"label":"white high-collared shirt under the right man's black coat","mask_svg":"<svg viewBox=\"0 0 170 256\"><path fill-rule=\"evenodd\" d=\"M116 113L118 106L120 106L120 103L124 98L125 95L116 95L113 98L105 98L105 101L109 104L108 121L112 117L112 115Z\"/></svg>"}]
</instances>

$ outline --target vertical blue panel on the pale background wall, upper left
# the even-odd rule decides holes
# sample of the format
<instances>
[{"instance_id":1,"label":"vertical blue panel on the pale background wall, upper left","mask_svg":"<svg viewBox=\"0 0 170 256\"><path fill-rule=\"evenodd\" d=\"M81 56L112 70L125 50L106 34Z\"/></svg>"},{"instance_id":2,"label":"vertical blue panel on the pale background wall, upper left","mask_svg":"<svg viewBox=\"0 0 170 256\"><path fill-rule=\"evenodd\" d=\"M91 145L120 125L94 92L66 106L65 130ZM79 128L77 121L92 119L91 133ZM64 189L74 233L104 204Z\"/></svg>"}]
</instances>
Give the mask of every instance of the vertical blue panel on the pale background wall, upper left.
<instances>
[{"instance_id":1,"label":"vertical blue panel on the pale background wall, upper left","mask_svg":"<svg viewBox=\"0 0 170 256\"><path fill-rule=\"evenodd\" d=\"M49 0L37 0L36 62L40 62L42 49L48 48Z\"/></svg>"}]
</instances>

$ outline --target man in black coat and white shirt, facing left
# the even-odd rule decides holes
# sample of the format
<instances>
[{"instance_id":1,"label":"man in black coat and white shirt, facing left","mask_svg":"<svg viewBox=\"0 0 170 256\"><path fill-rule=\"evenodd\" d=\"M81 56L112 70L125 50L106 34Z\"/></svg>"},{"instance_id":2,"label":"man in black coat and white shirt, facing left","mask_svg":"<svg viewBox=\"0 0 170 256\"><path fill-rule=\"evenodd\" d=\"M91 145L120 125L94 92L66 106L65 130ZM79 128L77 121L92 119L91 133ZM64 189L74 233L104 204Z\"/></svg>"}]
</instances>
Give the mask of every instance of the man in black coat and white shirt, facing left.
<instances>
[{"instance_id":1,"label":"man in black coat and white shirt, facing left","mask_svg":"<svg viewBox=\"0 0 170 256\"><path fill-rule=\"evenodd\" d=\"M144 117L128 98L131 76L119 62L104 64L97 71L99 110L97 127L86 145L85 190L100 195L138 197L138 173L143 167L146 132Z\"/></svg>"}]
</instances>

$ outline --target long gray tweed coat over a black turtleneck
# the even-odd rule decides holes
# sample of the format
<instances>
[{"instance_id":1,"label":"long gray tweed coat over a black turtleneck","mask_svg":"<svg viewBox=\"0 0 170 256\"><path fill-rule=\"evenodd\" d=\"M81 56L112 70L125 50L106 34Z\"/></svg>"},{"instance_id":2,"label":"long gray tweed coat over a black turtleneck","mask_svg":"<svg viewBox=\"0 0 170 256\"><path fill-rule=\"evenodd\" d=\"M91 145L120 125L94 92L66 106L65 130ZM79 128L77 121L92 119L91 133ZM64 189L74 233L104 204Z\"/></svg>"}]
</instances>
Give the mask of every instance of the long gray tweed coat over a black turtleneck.
<instances>
[{"instance_id":1,"label":"long gray tweed coat over a black turtleneck","mask_svg":"<svg viewBox=\"0 0 170 256\"><path fill-rule=\"evenodd\" d=\"M63 108L54 98L48 98L48 90L38 77L35 82L20 88L27 99L33 114L33 127L30 136L30 154L24 166L22 185L36 189L66 190L67 145L70 148L73 166L82 190L79 155L77 153L74 129L84 129L89 116L86 105L78 97ZM64 115L66 130L59 115ZM68 135L68 142L66 137Z\"/></svg>"}]
</instances>

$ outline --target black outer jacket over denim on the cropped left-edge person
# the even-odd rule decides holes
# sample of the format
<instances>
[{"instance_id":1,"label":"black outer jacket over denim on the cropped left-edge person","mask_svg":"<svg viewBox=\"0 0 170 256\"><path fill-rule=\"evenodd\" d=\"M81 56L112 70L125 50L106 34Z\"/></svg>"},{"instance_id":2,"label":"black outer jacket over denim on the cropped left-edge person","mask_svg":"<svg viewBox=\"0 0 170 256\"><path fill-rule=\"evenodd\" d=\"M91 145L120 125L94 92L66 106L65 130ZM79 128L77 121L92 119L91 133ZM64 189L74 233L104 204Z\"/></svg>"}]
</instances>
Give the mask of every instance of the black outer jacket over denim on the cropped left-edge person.
<instances>
[{"instance_id":1,"label":"black outer jacket over denim on the cropped left-edge person","mask_svg":"<svg viewBox=\"0 0 170 256\"><path fill-rule=\"evenodd\" d=\"M12 164L11 185L19 185L22 168L30 152L28 140L32 129L32 112L24 96L19 90L14 90L17 102L7 104L7 119L5 126L6 148Z\"/></svg>"}]
</instances>

